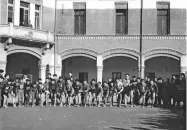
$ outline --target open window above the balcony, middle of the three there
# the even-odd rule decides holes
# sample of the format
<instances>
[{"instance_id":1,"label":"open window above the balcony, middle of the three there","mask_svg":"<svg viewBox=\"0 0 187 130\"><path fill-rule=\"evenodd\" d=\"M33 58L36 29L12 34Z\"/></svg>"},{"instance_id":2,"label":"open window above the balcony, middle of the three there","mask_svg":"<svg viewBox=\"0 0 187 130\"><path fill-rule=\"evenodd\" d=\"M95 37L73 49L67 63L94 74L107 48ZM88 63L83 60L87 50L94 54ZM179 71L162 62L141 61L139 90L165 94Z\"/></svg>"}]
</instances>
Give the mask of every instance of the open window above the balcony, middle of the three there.
<instances>
[{"instance_id":1,"label":"open window above the balcony, middle of the three there","mask_svg":"<svg viewBox=\"0 0 187 130\"><path fill-rule=\"evenodd\" d=\"M29 22L29 3L20 2L20 25L28 24Z\"/></svg>"}]
</instances>

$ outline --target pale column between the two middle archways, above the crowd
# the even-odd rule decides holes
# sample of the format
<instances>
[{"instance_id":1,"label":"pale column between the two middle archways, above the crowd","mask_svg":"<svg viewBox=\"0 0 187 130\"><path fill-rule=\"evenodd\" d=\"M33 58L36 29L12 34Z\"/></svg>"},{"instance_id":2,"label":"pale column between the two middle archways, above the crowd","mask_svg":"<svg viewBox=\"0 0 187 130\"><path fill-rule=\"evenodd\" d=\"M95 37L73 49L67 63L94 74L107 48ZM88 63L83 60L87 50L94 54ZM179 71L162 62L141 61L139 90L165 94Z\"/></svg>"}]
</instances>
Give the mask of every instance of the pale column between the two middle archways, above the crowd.
<instances>
[{"instance_id":1,"label":"pale column between the two middle archways, above the crowd","mask_svg":"<svg viewBox=\"0 0 187 130\"><path fill-rule=\"evenodd\" d=\"M97 82L102 82L103 80L103 57L99 55L97 57Z\"/></svg>"}]
</instances>

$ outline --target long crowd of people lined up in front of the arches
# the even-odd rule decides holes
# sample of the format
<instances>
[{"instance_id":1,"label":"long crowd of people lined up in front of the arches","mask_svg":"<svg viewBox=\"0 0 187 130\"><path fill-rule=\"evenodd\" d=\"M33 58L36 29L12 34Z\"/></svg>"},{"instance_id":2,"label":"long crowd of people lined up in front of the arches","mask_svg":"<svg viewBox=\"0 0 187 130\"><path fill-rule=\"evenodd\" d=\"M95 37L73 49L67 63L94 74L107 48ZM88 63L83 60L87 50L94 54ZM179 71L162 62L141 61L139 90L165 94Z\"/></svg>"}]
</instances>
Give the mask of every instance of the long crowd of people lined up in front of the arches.
<instances>
[{"instance_id":1,"label":"long crowd of people lined up in front of the arches","mask_svg":"<svg viewBox=\"0 0 187 130\"><path fill-rule=\"evenodd\" d=\"M0 101L4 108L8 107L8 98L12 98L13 107L106 107L108 104L113 107L116 103L118 107L168 107L179 106L181 101L186 106L186 78L183 73L167 80L161 77L140 79L135 76L130 80L129 74L126 74L124 79L108 79L103 83L95 79L90 83L74 80L72 73L66 78L48 74L45 83L41 78L31 83L26 75L12 80L8 74L3 76L3 73L0 70Z\"/></svg>"}]
</instances>

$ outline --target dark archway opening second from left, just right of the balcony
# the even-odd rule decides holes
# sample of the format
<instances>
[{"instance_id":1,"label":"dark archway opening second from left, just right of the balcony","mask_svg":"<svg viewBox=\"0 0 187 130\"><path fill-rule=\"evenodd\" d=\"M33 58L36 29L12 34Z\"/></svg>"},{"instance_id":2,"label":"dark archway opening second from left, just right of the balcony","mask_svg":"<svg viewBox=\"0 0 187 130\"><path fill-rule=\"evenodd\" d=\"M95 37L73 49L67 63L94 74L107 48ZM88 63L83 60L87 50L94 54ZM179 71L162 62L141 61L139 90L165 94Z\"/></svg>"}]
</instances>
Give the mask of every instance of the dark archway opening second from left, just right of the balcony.
<instances>
[{"instance_id":1,"label":"dark archway opening second from left, just right of the balcony","mask_svg":"<svg viewBox=\"0 0 187 130\"><path fill-rule=\"evenodd\" d=\"M63 77L67 77L69 72L72 72L74 79L81 81L95 79L97 76L96 60L85 56L73 56L62 61Z\"/></svg>"}]
</instances>

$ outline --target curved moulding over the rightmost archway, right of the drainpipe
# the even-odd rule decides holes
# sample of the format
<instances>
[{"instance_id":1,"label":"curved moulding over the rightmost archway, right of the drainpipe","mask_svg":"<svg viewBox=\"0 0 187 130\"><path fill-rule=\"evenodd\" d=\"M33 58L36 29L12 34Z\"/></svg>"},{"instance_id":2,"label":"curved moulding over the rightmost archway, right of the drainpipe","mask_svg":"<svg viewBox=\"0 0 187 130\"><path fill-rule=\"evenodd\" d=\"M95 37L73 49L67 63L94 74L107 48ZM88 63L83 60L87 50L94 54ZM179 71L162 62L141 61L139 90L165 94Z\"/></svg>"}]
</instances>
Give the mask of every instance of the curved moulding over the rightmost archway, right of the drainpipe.
<instances>
[{"instance_id":1,"label":"curved moulding over the rightmost archway, right of the drainpipe","mask_svg":"<svg viewBox=\"0 0 187 130\"><path fill-rule=\"evenodd\" d=\"M145 61L154 57L161 57L161 56L171 57L173 59L180 60L180 57L182 55L184 54L170 48L156 48L143 53Z\"/></svg>"}]
</instances>

